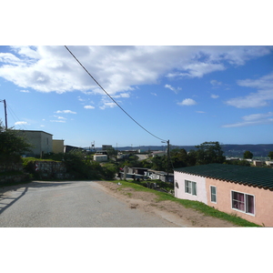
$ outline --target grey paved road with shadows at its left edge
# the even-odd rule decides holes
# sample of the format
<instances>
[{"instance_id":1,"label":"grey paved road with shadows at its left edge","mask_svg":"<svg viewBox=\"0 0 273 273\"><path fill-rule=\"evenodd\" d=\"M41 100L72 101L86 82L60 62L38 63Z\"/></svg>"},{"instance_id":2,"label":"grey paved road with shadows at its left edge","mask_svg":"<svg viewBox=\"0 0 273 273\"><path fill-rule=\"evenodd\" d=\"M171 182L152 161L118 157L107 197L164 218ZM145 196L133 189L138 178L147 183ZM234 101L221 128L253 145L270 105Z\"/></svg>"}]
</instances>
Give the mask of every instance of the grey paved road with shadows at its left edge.
<instances>
[{"instance_id":1,"label":"grey paved road with shadows at its left edge","mask_svg":"<svg viewBox=\"0 0 273 273\"><path fill-rule=\"evenodd\" d=\"M32 182L0 193L0 227L177 227L131 209L96 182Z\"/></svg>"}]
</instances>

